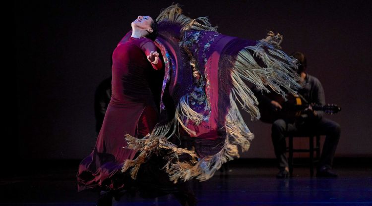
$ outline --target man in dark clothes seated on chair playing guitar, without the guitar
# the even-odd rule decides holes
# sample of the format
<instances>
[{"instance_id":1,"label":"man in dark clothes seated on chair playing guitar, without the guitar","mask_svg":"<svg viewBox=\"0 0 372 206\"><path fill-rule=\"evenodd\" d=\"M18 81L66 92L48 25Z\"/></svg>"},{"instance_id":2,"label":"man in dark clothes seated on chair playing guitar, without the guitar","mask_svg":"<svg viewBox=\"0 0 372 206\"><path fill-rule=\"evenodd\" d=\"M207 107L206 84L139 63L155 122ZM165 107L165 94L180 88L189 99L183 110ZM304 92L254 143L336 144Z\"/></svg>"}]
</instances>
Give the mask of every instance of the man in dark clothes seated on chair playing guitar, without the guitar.
<instances>
[{"instance_id":1,"label":"man in dark clothes seated on chair playing guitar, without the guitar","mask_svg":"<svg viewBox=\"0 0 372 206\"><path fill-rule=\"evenodd\" d=\"M303 88L298 91L299 97L307 104L324 105L324 90L319 80L306 73L306 57L301 52L295 52L293 57L299 60L298 72L301 75ZM274 100L269 100L268 97L262 95L261 92L254 92L260 103L266 102L271 104L276 110L281 110L282 105ZM319 163L317 165L317 177L337 177L338 175L331 171L333 157L340 138L340 125L332 120L323 117L323 111L315 111L309 106L302 115L295 121L288 118L279 118L273 121L271 127L271 139L275 150L275 155L278 161L279 172L277 178L289 177L288 159L286 156L286 140L285 137L290 132L318 133L326 135Z\"/></svg>"}]
</instances>

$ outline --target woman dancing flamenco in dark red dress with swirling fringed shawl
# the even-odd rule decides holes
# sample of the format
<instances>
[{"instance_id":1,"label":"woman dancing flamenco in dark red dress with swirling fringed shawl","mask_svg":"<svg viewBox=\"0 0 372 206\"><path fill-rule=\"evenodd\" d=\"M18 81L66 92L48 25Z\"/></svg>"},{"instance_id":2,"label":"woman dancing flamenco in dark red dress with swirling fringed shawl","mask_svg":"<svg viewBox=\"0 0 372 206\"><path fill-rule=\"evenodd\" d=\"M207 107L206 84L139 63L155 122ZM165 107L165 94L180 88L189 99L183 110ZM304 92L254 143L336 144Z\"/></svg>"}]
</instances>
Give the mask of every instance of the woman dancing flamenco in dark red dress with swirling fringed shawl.
<instances>
[{"instance_id":1,"label":"woman dancing flamenco in dark red dress with swirling fringed shawl","mask_svg":"<svg viewBox=\"0 0 372 206\"><path fill-rule=\"evenodd\" d=\"M260 41L222 35L177 4L156 21L138 16L131 26L113 53L112 99L96 147L80 163L78 191L107 190L98 205L111 205L120 191L171 193L181 205L195 205L187 180L208 180L239 157L238 145L249 149L253 134L237 103L252 119L259 111L245 81L295 93L297 62L280 51L279 34ZM157 109L149 73L162 67Z\"/></svg>"}]
</instances>

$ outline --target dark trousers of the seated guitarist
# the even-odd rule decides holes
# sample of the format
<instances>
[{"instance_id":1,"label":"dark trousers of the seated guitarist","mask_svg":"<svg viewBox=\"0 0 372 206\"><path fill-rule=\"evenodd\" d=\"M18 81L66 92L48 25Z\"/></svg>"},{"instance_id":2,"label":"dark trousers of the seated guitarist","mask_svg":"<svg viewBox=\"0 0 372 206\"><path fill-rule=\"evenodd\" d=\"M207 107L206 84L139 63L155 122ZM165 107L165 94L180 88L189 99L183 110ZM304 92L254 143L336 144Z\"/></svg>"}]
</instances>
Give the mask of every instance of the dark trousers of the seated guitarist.
<instances>
[{"instance_id":1,"label":"dark trousers of the seated guitarist","mask_svg":"<svg viewBox=\"0 0 372 206\"><path fill-rule=\"evenodd\" d=\"M326 135L317 169L319 170L319 168L324 167L330 169L332 167L333 157L341 133L340 125L337 122L334 122L330 119L321 118L320 120L316 121L305 121L302 124L296 124L288 123L283 119L278 119L273 122L271 131L271 139L274 146L275 155L278 160L279 169L288 167L285 137L292 132Z\"/></svg>"}]
</instances>

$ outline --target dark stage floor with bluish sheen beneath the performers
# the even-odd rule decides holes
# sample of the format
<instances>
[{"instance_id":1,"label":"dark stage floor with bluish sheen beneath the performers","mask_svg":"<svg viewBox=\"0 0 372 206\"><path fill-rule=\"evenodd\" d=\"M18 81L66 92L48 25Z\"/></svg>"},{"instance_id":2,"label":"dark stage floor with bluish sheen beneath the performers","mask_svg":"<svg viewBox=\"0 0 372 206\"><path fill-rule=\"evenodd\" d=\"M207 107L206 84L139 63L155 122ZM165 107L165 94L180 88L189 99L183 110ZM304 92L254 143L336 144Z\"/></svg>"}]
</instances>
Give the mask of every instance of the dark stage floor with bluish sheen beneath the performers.
<instances>
[{"instance_id":1,"label":"dark stage floor with bluish sheen beneath the performers","mask_svg":"<svg viewBox=\"0 0 372 206\"><path fill-rule=\"evenodd\" d=\"M97 193L76 191L78 162L2 176L0 205L95 206ZM257 164L257 162L255 163ZM334 166L338 178L310 177L308 168L294 168L294 177L276 179L277 169L267 165L229 166L206 182L192 182L198 206L366 206L372 205L372 167ZM156 199L124 197L118 206L178 206L172 196Z\"/></svg>"}]
</instances>

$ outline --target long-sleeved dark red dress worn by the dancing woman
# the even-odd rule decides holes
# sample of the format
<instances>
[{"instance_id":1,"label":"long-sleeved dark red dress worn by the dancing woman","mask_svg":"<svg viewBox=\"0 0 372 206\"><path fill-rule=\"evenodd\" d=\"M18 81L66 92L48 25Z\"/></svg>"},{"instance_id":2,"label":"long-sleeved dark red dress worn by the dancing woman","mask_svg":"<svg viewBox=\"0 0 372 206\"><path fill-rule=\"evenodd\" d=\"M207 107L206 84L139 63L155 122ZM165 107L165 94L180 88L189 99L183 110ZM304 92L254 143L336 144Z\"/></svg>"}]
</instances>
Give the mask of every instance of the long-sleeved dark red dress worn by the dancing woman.
<instances>
[{"instance_id":1,"label":"long-sleeved dark red dress worn by the dancing woman","mask_svg":"<svg viewBox=\"0 0 372 206\"><path fill-rule=\"evenodd\" d=\"M93 152L84 158L77 172L78 191L84 189L120 189L124 182L113 181L126 159L133 159L135 151L124 149L125 134L143 137L157 122L157 109L150 89L151 69L161 69L147 60L157 51L147 38L130 37L119 43L113 53L112 98Z\"/></svg>"}]
</instances>

